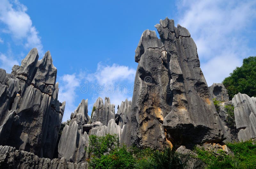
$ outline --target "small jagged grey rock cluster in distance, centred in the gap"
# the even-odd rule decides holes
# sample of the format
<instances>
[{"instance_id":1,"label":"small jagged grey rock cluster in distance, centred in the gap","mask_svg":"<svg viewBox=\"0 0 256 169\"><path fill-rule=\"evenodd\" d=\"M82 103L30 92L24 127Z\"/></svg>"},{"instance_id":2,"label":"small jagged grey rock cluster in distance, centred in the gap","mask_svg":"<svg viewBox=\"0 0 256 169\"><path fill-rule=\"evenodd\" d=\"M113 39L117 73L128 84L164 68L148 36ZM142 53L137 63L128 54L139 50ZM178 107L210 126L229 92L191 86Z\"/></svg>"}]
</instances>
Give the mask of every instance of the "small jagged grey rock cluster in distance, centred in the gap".
<instances>
[{"instance_id":1,"label":"small jagged grey rock cluster in distance, centred in the gap","mask_svg":"<svg viewBox=\"0 0 256 169\"><path fill-rule=\"evenodd\" d=\"M110 119L115 119L115 105L110 104L109 98L105 97L103 102L103 99L99 97L93 104L93 107L95 107L95 111L92 112L92 122L100 121L103 125L107 126Z\"/></svg>"}]
</instances>

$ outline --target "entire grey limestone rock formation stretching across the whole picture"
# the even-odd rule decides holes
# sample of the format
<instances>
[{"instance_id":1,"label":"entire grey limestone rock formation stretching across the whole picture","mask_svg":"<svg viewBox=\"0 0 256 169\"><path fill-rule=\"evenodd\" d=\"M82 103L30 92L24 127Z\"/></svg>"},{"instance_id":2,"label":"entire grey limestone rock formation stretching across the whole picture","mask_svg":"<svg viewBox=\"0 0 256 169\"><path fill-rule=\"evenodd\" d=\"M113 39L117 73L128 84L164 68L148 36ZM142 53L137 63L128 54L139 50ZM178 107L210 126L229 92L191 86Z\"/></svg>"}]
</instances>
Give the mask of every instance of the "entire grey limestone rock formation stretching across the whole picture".
<instances>
[{"instance_id":1,"label":"entire grey limestone rock formation stretching across the whole picture","mask_svg":"<svg viewBox=\"0 0 256 169\"><path fill-rule=\"evenodd\" d=\"M73 113L65 112L70 121L63 123L59 139L65 102L58 101L50 52L38 60L34 48L11 74L0 69L0 168L87 168L90 135L116 134L127 146L176 144L182 151L255 138L256 99L238 93L231 101L223 84L208 87L188 30L168 18L155 27L160 39L146 30L135 50L132 101L123 101L115 113L110 98L98 98L90 118L83 99ZM221 102L218 112L213 98ZM234 106L233 127L227 105Z\"/></svg>"}]
</instances>

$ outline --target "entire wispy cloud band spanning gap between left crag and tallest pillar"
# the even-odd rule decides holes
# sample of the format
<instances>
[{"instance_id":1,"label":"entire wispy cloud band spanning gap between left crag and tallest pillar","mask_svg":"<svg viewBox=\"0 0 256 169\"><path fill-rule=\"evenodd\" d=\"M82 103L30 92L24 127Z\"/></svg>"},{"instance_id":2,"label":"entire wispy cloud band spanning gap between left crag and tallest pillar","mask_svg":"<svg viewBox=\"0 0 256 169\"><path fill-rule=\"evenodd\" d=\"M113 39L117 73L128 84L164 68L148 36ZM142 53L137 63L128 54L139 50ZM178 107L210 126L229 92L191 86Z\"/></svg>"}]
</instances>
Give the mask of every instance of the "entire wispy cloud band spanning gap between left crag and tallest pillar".
<instances>
[{"instance_id":1,"label":"entire wispy cloud band spanning gap between left crag and tallest pillar","mask_svg":"<svg viewBox=\"0 0 256 169\"><path fill-rule=\"evenodd\" d=\"M92 106L98 97L109 97L112 104L121 104L126 98L132 99L132 85L136 70L128 66L98 63L94 73L66 74L58 77L59 100L66 100L63 121L70 118L70 114L76 109L81 100L77 100L78 92L84 94L83 99L88 99L88 114L91 114ZM83 86L83 91L81 91ZM86 88L86 92L85 89ZM129 91L129 93L128 93ZM83 96L83 95L82 95ZM89 98L87 98L89 97Z\"/></svg>"}]
</instances>

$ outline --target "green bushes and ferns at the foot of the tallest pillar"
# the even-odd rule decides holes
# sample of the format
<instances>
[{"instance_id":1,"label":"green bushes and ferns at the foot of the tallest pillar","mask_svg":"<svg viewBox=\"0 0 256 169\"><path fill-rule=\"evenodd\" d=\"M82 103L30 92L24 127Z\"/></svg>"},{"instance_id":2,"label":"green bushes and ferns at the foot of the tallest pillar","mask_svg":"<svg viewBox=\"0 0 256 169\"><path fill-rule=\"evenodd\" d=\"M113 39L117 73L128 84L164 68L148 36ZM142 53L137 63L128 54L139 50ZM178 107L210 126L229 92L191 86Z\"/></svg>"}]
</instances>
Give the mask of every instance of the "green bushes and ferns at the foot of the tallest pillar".
<instances>
[{"instance_id":1,"label":"green bushes and ferns at the foot of the tallest pillar","mask_svg":"<svg viewBox=\"0 0 256 169\"><path fill-rule=\"evenodd\" d=\"M139 149L135 146L126 148L119 146L117 135L89 136L89 167L94 169L186 169L192 162L190 154L180 154L174 148L167 147L163 151L149 148ZM204 168L202 160L196 160L194 168Z\"/></svg>"}]
</instances>

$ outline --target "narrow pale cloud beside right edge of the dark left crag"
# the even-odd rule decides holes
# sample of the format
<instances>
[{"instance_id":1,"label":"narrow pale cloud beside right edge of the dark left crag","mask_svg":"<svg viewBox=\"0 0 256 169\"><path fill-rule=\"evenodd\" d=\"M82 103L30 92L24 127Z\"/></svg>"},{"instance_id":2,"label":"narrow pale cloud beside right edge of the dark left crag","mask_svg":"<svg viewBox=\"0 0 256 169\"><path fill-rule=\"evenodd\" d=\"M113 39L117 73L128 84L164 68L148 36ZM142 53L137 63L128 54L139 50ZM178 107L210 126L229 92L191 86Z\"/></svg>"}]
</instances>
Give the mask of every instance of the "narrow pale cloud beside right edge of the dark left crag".
<instances>
[{"instance_id":1,"label":"narrow pale cloud beside right edge of the dark left crag","mask_svg":"<svg viewBox=\"0 0 256 169\"><path fill-rule=\"evenodd\" d=\"M76 74L66 74L59 78L59 94L60 102L66 101L63 121L70 119L70 114L74 112L79 103L75 103L77 92L79 92L80 80Z\"/></svg>"}]
</instances>

